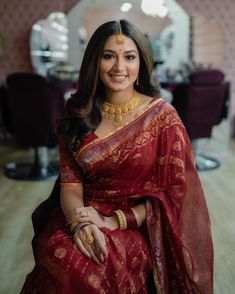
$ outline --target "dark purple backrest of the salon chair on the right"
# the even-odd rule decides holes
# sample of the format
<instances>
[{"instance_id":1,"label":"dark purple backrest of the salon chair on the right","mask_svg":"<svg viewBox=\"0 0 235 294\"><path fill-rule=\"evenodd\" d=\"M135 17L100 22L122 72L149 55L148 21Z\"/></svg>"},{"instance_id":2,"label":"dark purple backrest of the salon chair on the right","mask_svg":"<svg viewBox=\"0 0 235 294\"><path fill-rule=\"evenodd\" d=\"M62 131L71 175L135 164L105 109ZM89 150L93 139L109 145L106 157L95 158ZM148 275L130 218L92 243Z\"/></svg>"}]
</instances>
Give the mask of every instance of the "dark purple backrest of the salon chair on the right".
<instances>
[{"instance_id":1,"label":"dark purple backrest of the salon chair on the right","mask_svg":"<svg viewBox=\"0 0 235 294\"><path fill-rule=\"evenodd\" d=\"M210 137L224 110L227 89L224 74L219 70L198 70L189 75L189 81L174 88L172 105L190 139Z\"/></svg>"}]
</instances>

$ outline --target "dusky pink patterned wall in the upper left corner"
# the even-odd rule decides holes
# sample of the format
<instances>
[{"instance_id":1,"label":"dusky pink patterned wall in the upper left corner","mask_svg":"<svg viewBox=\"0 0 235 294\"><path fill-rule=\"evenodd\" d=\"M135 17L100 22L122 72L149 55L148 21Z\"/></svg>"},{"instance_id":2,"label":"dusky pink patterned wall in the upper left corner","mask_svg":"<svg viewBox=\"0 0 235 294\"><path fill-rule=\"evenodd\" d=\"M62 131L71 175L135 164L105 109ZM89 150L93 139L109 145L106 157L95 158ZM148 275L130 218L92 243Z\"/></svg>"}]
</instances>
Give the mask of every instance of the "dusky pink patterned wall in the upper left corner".
<instances>
[{"instance_id":1,"label":"dusky pink patterned wall in the upper left corner","mask_svg":"<svg viewBox=\"0 0 235 294\"><path fill-rule=\"evenodd\" d=\"M8 47L0 60L0 83L18 71L32 71L30 58L30 31L35 22L47 17L53 11L68 11L80 0L1 0L0 33L7 40Z\"/></svg>"}]
</instances>

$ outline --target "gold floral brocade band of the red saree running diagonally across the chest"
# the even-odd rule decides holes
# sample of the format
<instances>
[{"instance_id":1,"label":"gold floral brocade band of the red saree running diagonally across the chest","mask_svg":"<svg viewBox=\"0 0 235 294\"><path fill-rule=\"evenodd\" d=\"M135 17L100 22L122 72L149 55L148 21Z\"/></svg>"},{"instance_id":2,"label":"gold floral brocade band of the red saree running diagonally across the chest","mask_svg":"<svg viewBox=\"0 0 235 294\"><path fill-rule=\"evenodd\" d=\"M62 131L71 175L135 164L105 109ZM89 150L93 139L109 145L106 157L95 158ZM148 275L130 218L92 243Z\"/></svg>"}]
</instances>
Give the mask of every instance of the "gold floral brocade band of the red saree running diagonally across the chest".
<instances>
[{"instance_id":1,"label":"gold floral brocade band of the red saree running diagonally across the chest","mask_svg":"<svg viewBox=\"0 0 235 294\"><path fill-rule=\"evenodd\" d=\"M168 105L168 104L167 104ZM169 127L171 124L178 122L177 117L174 116L172 109L168 109L164 101L158 103L156 111L152 111L146 117L142 117L135 124L130 126L130 130L123 136L121 133L115 134L109 140L104 142L96 142L87 148L82 153L78 154L77 161L83 165L83 169L90 171L96 163L100 161L108 161L112 164L110 169L116 168L129 156L131 150L137 147L144 147L155 140L159 135L163 127ZM156 112L160 110L159 115ZM162 121L162 122L161 122ZM165 123L167 121L167 123ZM131 134L131 136L128 136ZM125 146L125 148L122 148ZM121 148L120 148L121 147ZM86 160L84 160L86 158Z\"/></svg>"}]
</instances>

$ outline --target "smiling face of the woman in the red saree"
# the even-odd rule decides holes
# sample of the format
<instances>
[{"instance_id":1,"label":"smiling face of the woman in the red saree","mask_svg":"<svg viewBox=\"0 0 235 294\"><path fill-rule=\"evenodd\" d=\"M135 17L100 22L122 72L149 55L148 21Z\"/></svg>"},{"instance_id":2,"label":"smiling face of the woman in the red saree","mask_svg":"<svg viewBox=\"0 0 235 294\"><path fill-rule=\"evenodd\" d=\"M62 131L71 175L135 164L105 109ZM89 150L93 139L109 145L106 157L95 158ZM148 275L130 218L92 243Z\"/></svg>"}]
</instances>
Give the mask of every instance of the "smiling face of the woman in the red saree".
<instances>
[{"instance_id":1,"label":"smiling face of the woman in the red saree","mask_svg":"<svg viewBox=\"0 0 235 294\"><path fill-rule=\"evenodd\" d=\"M110 36L100 60L99 76L107 90L122 91L132 87L140 67L137 47L130 38L118 44L116 35Z\"/></svg>"}]
</instances>

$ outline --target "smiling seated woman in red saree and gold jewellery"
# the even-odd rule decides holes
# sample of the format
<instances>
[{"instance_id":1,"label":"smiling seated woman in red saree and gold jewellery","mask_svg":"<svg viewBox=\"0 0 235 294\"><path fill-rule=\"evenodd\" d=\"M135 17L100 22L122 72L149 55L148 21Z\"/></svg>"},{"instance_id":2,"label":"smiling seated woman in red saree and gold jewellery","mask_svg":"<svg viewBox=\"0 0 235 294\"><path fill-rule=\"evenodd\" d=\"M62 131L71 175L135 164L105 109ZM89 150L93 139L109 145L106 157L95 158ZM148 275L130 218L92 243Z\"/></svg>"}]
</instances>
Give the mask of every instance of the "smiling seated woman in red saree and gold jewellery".
<instances>
[{"instance_id":1,"label":"smiling seated woman in red saree and gold jewellery","mask_svg":"<svg viewBox=\"0 0 235 294\"><path fill-rule=\"evenodd\" d=\"M191 145L151 84L144 35L101 25L59 124L60 207L22 293L213 293L210 221Z\"/></svg>"}]
</instances>

